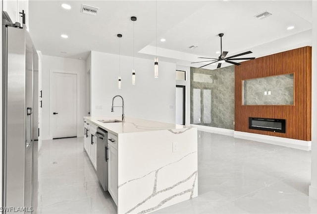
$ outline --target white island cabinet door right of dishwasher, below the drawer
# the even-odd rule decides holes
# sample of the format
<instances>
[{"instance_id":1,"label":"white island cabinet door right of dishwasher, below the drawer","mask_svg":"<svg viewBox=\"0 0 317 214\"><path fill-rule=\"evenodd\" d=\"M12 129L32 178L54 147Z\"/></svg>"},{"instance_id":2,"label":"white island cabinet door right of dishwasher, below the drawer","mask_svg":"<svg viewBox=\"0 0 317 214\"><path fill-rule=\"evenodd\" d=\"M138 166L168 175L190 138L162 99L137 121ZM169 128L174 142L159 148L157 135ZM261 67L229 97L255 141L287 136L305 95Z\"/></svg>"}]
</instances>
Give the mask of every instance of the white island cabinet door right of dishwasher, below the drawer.
<instances>
[{"instance_id":1,"label":"white island cabinet door right of dishwasher, below the drawer","mask_svg":"<svg viewBox=\"0 0 317 214\"><path fill-rule=\"evenodd\" d=\"M118 150L110 143L108 143L108 155L108 191L118 206Z\"/></svg>"}]
</instances>

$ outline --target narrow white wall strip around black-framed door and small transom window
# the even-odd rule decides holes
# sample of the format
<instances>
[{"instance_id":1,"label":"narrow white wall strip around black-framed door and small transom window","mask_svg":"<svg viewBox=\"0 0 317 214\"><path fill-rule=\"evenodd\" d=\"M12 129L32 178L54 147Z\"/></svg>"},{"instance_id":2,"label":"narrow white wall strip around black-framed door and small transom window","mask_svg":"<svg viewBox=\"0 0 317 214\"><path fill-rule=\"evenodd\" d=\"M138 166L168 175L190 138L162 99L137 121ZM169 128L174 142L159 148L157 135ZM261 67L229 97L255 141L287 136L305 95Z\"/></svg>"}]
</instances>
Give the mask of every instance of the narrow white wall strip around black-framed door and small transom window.
<instances>
[{"instance_id":1,"label":"narrow white wall strip around black-framed door and small transom window","mask_svg":"<svg viewBox=\"0 0 317 214\"><path fill-rule=\"evenodd\" d=\"M176 66L176 70L186 71L186 81L176 80L176 85L185 85L185 125L190 125L190 67Z\"/></svg>"}]
</instances>

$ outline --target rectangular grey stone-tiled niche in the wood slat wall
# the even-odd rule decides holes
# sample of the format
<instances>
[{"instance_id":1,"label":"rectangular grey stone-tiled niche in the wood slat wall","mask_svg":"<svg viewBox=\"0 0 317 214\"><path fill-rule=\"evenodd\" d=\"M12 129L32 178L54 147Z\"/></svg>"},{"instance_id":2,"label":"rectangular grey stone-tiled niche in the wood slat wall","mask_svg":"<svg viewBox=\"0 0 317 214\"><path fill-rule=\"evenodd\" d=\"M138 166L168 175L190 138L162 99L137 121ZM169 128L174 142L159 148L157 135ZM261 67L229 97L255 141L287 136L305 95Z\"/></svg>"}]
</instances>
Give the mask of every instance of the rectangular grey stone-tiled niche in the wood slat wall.
<instances>
[{"instance_id":1,"label":"rectangular grey stone-tiled niche in the wood slat wall","mask_svg":"<svg viewBox=\"0 0 317 214\"><path fill-rule=\"evenodd\" d=\"M243 105L293 105L294 74L243 80Z\"/></svg>"}]
</instances>

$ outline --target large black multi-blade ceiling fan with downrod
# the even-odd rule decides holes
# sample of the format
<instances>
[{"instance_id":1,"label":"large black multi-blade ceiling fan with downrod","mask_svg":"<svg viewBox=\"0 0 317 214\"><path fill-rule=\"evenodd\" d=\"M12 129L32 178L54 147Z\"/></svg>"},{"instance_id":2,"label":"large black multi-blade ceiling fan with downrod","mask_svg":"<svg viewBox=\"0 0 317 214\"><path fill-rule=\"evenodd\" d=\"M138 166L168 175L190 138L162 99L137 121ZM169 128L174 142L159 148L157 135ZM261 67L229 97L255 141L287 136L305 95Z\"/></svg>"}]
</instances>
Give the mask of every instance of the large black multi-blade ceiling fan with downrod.
<instances>
[{"instance_id":1,"label":"large black multi-blade ceiling fan with downrod","mask_svg":"<svg viewBox=\"0 0 317 214\"><path fill-rule=\"evenodd\" d=\"M199 67L199 68L203 68L205 66L209 66L209 65L211 65L213 63L218 63L217 69L221 67L221 63L230 63L230 64L233 64L233 65L236 65L236 66L240 66L241 65L240 63L233 62L232 60L254 60L254 59L256 59L255 57L235 58L235 57L239 57L239 56L242 56L242 55L251 54L252 51L247 51L247 52L244 52L244 53L237 54L237 55L234 55L234 56L226 58L228 52L227 51L223 51L222 52L222 36L223 36L223 33L219 33L218 36L220 37L220 53L222 53L222 54L218 57L218 59L216 59L216 58L207 58L207 57L199 57L201 59L209 59L209 60L208 61L195 62L195 63L211 62L211 63L209 63L207 65L204 65L202 67Z\"/></svg>"}]
</instances>

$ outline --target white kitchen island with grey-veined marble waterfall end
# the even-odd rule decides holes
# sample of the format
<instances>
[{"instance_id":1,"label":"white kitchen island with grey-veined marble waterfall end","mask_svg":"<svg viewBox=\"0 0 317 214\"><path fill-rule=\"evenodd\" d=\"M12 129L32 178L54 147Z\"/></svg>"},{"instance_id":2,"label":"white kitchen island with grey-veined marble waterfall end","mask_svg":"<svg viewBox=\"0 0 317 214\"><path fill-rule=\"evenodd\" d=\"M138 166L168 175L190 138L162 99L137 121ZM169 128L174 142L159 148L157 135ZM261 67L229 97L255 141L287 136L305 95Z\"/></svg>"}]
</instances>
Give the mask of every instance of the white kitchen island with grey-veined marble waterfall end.
<instances>
[{"instance_id":1,"label":"white kitchen island with grey-veined marble waterfall end","mask_svg":"<svg viewBox=\"0 0 317 214\"><path fill-rule=\"evenodd\" d=\"M108 132L108 153L116 152L109 155L108 190L117 213L151 213L197 197L197 128L129 117L114 120L120 118L84 118Z\"/></svg>"}]
</instances>

